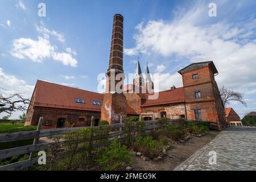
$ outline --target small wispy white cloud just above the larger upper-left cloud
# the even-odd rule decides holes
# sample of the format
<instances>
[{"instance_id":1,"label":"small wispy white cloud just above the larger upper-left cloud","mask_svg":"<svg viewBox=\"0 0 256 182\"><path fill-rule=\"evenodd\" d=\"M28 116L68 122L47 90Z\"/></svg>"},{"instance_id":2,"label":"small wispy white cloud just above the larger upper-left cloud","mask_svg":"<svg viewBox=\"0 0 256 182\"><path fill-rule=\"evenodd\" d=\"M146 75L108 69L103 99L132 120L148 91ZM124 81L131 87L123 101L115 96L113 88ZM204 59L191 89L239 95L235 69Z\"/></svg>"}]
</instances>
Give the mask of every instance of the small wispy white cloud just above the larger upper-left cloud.
<instances>
[{"instance_id":1,"label":"small wispy white cloud just above the larger upper-left cloud","mask_svg":"<svg viewBox=\"0 0 256 182\"><path fill-rule=\"evenodd\" d=\"M52 35L52 36L55 36L57 40L59 40L60 42L62 43L65 42L65 38L62 33L57 32L55 30L49 30L44 26L43 22L40 23L40 26L38 26L37 24L35 26L36 26L36 30L42 33L45 39L49 39L49 35Z\"/></svg>"}]
</instances>

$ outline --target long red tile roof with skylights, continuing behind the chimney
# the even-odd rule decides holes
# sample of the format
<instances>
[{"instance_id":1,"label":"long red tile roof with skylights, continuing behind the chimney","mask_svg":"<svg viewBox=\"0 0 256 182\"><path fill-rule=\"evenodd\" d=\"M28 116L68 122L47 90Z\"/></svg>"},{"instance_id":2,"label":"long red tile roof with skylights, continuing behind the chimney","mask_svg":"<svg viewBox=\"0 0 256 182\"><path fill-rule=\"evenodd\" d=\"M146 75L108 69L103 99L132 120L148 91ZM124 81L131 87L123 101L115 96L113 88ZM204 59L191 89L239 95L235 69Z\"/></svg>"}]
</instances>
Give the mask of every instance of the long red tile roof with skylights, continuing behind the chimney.
<instances>
[{"instance_id":1,"label":"long red tile roof with skylights, continuing behind the chimney","mask_svg":"<svg viewBox=\"0 0 256 182\"><path fill-rule=\"evenodd\" d=\"M34 95L35 106L86 111L101 111L101 106L93 105L91 101L102 102L104 97L104 94L101 93L53 84L51 82L41 80L36 82ZM85 104L75 102L74 98L84 100ZM137 113L127 105L127 114Z\"/></svg>"}]
</instances>

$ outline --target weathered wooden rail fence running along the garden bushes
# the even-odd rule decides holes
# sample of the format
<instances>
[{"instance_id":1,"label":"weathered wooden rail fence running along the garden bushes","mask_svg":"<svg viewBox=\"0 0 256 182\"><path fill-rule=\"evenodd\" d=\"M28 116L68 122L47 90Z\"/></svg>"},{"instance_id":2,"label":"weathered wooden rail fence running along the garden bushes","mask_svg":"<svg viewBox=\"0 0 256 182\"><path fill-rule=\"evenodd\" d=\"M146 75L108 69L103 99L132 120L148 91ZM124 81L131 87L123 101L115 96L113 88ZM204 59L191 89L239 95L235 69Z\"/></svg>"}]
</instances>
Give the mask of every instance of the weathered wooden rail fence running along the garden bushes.
<instances>
[{"instance_id":1,"label":"weathered wooden rail fence running along the garden bushes","mask_svg":"<svg viewBox=\"0 0 256 182\"><path fill-rule=\"evenodd\" d=\"M92 118L92 123L94 119ZM16 133L3 133L0 134L0 143L2 142L13 142L18 140L26 140L26 139L34 139L33 144L28 146L16 147L16 148L8 148L5 150L0 150L0 159L6 159L14 155L22 155L22 154L30 154L30 158L28 160L24 160L22 162L16 162L13 164L8 164L6 166L0 166L0 171L8 171L8 170L21 170L27 167L31 167L32 164L38 162L38 158L32 158L32 152L47 150L52 143L38 143L39 138L42 137L52 137L55 135L61 135L67 131L75 131L81 130L86 127L65 127L60 129L47 129L47 130L40 130L42 125L43 118L39 119L38 129L34 131L22 131ZM152 130L158 128L160 125L157 121L146 121L146 126L143 127L144 131ZM106 126L90 126L90 127L106 127ZM126 127L126 123L121 122L109 125L110 129L116 129L108 133L108 135L98 135L93 137L90 140L98 140L98 139L106 139L109 138L113 140L119 136L127 134L129 131L123 130ZM118 130L119 129L119 130Z\"/></svg>"}]
</instances>

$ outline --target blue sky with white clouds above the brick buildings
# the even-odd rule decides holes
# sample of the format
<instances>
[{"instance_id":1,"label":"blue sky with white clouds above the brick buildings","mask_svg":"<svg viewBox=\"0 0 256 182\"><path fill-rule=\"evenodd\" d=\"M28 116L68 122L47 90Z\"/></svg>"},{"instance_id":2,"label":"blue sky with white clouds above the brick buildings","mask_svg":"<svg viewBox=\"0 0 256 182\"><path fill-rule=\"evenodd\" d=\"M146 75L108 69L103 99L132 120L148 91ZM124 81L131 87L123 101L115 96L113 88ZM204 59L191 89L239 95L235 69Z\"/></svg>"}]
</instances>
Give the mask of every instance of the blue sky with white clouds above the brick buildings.
<instances>
[{"instance_id":1,"label":"blue sky with white clouds above the brick buildings","mask_svg":"<svg viewBox=\"0 0 256 182\"><path fill-rule=\"evenodd\" d=\"M38 4L46 4L46 17ZM217 17L209 17L209 3ZM108 68L114 14L124 20L123 59L133 73L159 73L160 90L182 86L177 70L213 60L218 86L245 94L242 117L256 110L256 2L247 1L31 1L0 0L0 87L31 97L36 80L97 92ZM0 114L2 117L3 114ZM13 118L18 117L15 113Z\"/></svg>"}]
</instances>

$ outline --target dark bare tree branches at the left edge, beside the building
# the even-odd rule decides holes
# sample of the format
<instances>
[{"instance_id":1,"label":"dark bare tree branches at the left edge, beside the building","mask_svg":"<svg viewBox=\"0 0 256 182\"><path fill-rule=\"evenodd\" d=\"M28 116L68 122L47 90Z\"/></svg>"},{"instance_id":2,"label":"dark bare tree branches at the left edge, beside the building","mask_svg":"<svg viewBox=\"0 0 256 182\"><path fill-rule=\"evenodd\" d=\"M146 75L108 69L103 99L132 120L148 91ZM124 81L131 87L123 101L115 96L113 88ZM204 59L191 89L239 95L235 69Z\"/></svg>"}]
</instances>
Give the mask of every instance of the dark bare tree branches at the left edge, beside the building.
<instances>
[{"instance_id":1,"label":"dark bare tree branches at the left edge, beside the building","mask_svg":"<svg viewBox=\"0 0 256 182\"><path fill-rule=\"evenodd\" d=\"M27 106L30 104L30 100L23 98L20 94L15 93L9 97L4 97L0 93L0 113L7 113L10 117L14 111L23 111L27 110Z\"/></svg>"}]
</instances>

